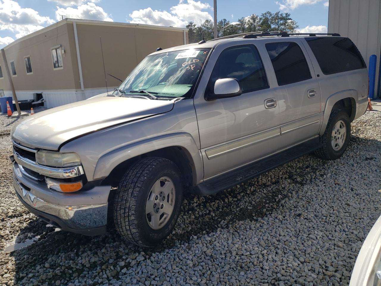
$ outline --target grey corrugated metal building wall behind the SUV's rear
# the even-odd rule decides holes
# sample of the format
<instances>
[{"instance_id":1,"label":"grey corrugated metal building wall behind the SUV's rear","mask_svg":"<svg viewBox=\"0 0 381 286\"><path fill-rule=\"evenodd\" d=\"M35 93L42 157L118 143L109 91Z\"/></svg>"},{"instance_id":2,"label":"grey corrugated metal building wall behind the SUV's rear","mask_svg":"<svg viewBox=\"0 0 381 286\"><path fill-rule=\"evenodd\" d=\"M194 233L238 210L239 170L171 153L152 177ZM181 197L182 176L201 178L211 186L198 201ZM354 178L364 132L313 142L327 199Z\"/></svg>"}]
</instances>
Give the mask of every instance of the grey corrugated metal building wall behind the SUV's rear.
<instances>
[{"instance_id":1,"label":"grey corrugated metal building wall behind the SUV's rear","mask_svg":"<svg viewBox=\"0 0 381 286\"><path fill-rule=\"evenodd\" d=\"M380 97L381 1L329 0L328 32L349 37L365 63L377 56L375 97Z\"/></svg>"}]
</instances>

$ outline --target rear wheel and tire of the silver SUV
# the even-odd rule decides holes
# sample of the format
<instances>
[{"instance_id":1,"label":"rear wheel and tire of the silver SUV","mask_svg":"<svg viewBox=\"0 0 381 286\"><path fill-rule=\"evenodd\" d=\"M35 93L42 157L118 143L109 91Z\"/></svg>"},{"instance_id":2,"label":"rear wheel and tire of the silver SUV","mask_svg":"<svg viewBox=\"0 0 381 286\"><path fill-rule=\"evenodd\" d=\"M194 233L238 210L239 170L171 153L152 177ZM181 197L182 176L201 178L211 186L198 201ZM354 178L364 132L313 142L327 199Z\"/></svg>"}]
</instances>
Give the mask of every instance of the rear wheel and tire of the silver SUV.
<instances>
[{"instance_id":1,"label":"rear wheel and tire of the silver SUV","mask_svg":"<svg viewBox=\"0 0 381 286\"><path fill-rule=\"evenodd\" d=\"M320 137L322 148L315 155L324 160L335 160L343 156L351 137L351 122L346 112L336 109L331 112L323 136Z\"/></svg>"}]
</instances>

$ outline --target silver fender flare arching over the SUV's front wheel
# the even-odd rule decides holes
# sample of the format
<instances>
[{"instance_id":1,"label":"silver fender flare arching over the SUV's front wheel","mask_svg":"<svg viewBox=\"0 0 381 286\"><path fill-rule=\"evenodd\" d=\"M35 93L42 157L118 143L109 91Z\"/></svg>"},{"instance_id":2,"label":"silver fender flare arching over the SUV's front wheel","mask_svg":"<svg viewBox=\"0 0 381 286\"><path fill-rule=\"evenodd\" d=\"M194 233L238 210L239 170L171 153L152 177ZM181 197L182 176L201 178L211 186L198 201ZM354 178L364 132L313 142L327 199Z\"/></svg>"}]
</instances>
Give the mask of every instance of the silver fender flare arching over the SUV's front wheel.
<instances>
[{"instance_id":1,"label":"silver fender flare arching over the SUV's front wheel","mask_svg":"<svg viewBox=\"0 0 381 286\"><path fill-rule=\"evenodd\" d=\"M193 178L194 185L202 182L204 175L202 156L193 137L186 132L170 133L145 139L102 155L95 166L93 179L106 178L118 164L133 157L166 147L181 147L185 149L192 160L190 163L192 172L195 175Z\"/></svg>"}]
</instances>

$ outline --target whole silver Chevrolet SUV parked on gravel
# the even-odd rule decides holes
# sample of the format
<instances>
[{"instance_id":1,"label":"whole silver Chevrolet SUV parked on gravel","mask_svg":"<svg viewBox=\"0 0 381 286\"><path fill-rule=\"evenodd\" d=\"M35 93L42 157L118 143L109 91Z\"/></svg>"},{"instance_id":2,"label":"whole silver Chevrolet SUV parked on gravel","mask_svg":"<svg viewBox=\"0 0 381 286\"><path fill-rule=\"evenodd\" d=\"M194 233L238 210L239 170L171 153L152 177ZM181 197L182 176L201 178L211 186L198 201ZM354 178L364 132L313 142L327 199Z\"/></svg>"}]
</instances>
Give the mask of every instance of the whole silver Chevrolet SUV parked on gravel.
<instances>
[{"instance_id":1,"label":"whole silver Chevrolet SUV parked on gravel","mask_svg":"<svg viewBox=\"0 0 381 286\"><path fill-rule=\"evenodd\" d=\"M312 151L341 157L367 95L363 58L338 34L158 48L111 94L14 127L16 195L62 230L115 225L154 246L176 225L185 190L215 194Z\"/></svg>"}]
</instances>

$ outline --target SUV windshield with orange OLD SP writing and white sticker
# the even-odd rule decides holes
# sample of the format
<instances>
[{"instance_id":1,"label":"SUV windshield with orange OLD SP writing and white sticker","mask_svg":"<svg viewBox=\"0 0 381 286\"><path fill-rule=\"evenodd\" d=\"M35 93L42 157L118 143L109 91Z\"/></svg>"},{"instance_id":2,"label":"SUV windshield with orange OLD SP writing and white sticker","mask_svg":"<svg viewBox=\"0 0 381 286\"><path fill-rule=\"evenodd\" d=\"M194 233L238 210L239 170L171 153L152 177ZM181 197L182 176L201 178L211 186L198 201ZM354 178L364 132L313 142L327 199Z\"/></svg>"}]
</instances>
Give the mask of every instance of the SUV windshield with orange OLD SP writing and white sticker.
<instances>
[{"instance_id":1,"label":"SUV windshield with orange OLD SP writing and white sticker","mask_svg":"<svg viewBox=\"0 0 381 286\"><path fill-rule=\"evenodd\" d=\"M126 94L144 90L157 97L191 97L209 52L204 48L147 56L119 89Z\"/></svg>"}]
</instances>

